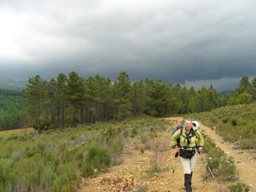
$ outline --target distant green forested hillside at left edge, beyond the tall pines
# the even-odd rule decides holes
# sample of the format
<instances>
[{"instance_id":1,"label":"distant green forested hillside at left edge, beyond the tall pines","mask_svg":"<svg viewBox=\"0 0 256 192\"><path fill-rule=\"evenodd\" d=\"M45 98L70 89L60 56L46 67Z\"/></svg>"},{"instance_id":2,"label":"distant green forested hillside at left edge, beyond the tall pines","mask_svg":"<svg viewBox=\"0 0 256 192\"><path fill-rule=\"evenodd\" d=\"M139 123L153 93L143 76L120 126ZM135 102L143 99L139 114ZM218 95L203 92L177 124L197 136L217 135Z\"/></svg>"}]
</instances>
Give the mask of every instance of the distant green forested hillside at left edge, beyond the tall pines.
<instances>
[{"instance_id":1,"label":"distant green forested hillside at left edge, beyond the tall pines","mask_svg":"<svg viewBox=\"0 0 256 192\"><path fill-rule=\"evenodd\" d=\"M25 94L16 90L0 90L0 130L14 130L27 125Z\"/></svg>"}]
</instances>

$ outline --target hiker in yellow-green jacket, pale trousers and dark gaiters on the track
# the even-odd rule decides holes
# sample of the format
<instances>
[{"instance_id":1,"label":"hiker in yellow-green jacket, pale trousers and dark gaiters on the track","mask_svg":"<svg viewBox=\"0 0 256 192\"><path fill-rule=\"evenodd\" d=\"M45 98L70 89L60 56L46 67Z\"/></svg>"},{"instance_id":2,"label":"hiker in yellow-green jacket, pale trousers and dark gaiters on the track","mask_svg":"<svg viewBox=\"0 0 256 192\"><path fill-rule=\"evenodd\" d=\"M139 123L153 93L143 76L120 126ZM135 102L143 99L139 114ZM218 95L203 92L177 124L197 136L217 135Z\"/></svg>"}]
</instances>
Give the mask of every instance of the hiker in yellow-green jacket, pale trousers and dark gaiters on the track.
<instances>
[{"instance_id":1,"label":"hiker in yellow-green jacket, pale trousers and dark gaiters on the track","mask_svg":"<svg viewBox=\"0 0 256 192\"><path fill-rule=\"evenodd\" d=\"M181 163L184 169L184 185L187 192L192 191L191 178L197 160L196 149L199 153L203 151L203 136L197 130L198 128L199 123L197 121L186 118L184 120L184 127L172 135L172 145L175 146L176 152L181 157ZM178 139L180 139L179 144ZM198 139L198 145L196 139Z\"/></svg>"}]
</instances>

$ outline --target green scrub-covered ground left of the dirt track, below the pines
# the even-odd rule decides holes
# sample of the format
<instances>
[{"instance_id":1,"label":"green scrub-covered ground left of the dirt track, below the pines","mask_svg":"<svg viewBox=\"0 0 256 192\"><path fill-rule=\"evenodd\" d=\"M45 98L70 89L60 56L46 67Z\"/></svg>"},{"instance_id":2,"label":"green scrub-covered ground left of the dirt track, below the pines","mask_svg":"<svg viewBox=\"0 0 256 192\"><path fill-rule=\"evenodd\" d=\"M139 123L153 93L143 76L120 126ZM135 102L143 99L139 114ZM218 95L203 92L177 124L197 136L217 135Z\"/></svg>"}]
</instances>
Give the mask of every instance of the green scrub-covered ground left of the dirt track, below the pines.
<instances>
[{"instance_id":1,"label":"green scrub-covered ground left of the dirt track, below the pines","mask_svg":"<svg viewBox=\"0 0 256 192\"><path fill-rule=\"evenodd\" d=\"M0 139L0 190L76 191L81 178L120 163L125 139L156 136L166 120L143 118L123 123L97 123L41 135Z\"/></svg>"}]
</instances>

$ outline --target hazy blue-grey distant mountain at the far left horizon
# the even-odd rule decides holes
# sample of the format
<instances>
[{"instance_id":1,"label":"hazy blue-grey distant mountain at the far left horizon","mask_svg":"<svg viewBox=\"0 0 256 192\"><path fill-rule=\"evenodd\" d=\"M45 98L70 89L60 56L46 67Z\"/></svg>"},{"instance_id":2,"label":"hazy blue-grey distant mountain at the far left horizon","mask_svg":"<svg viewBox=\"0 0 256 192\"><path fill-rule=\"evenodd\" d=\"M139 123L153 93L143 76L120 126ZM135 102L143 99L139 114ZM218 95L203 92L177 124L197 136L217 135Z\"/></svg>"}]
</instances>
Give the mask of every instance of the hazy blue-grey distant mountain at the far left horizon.
<instances>
[{"instance_id":1,"label":"hazy blue-grey distant mountain at the far left horizon","mask_svg":"<svg viewBox=\"0 0 256 192\"><path fill-rule=\"evenodd\" d=\"M11 78L0 78L0 89L2 90L23 90L26 88L26 81L15 81Z\"/></svg>"}]
</instances>

